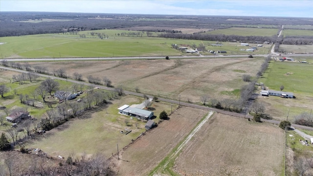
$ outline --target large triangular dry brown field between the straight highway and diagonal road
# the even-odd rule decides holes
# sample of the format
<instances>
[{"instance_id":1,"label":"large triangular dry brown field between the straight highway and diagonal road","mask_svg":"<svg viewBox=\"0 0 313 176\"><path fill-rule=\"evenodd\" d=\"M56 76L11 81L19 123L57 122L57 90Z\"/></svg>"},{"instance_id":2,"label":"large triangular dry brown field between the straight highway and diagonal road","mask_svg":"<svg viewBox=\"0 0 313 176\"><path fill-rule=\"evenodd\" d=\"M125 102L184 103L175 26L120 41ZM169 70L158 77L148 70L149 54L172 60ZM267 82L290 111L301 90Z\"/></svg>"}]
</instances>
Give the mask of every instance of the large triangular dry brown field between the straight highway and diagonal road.
<instances>
[{"instance_id":1,"label":"large triangular dry brown field between the straight highway and diagonal road","mask_svg":"<svg viewBox=\"0 0 313 176\"><path fill-rule=\"evenodd\" d=\"M32 66L46 66L49 70L65 68L69 76L74 72L103 78L113 86L181 101L199 102L203 94L211 98L232 97L231 91L246 83L243 74L256 75L262 58L173 59L130 61L38 62ZM229 94L223 92L230 92Z\"/></svg>"}]
</instances>

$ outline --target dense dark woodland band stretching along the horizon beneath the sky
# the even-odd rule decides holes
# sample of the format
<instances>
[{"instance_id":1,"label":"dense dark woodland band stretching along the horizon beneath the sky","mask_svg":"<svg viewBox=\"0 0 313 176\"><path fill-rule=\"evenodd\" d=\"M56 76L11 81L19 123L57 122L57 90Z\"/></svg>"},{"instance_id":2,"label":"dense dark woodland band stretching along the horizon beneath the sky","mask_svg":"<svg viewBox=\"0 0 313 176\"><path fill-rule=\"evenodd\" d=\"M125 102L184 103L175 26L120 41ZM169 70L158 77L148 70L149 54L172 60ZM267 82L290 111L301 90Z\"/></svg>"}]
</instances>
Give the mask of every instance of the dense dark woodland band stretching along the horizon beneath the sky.
<instances>
[{"instance_id":1,"label":"dense dark woodland band stretching along the horizon beneath the sky","mask_svg":"<svg viewBox=\"0 0 313 176\"><path fill-rule=\"evenodd\" d=\"M96 17L99 16L97 19ZM141 19L160 19L156 21ZM43 22L42 19L61 19L70 21ZM109 19L109 20L108 20ZM172 19L179 19L173 21ZM240 19L240 20L228 20ZM264 20L266 19L266 20ZM268 20L270 19L270 20ZM39 22L25 22L37 20ZM23 21L23 22L22 22ZM93 14L93 13L51 13L51 12L1 12L0 37L22 36L46 33L76 33L77 30L98 30L153 26L157 28L213 28L251 27L256 25L301 25L307 24L305 18L277 17L227 17L227 16L182 16L182 15L132 15L132 14ZM266 28L266 27L265 27ZM75 29L75 30L73 30ZM179 33L179 31L158 29L160 32ZM150 30L149 30L150 31ZM150 31L152 32L152 31Z\"/></svg>"}]
</instances>

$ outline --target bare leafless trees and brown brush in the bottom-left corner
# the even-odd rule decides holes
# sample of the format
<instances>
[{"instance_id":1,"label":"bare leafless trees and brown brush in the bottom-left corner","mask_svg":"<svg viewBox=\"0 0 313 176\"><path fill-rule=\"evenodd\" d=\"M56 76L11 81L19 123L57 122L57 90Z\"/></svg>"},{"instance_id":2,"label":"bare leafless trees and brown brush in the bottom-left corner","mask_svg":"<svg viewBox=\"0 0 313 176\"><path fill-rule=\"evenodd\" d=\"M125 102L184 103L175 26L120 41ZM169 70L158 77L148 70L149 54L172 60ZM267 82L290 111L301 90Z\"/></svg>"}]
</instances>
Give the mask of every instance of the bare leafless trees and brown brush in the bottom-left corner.
<instances>
[{"instance_id":1,"label":"bare leafless trees and brown brush in the bottom-left corner","mask_svg":"<svg viewBox=\"0 0 313 176\"><path fill-rule=\"evenodd\" d=\"M66 161L45 154L31 155L30 162L23 163L17 157L12 157L15 152L3 154L3 164L0 163L1 176L114 176L115 173L109 166L109 161L103 154L92 156L83 154L74 158L74 154L67 157ZM23 167L25 166L25 167Z\"/></svg>"}]
</instances>

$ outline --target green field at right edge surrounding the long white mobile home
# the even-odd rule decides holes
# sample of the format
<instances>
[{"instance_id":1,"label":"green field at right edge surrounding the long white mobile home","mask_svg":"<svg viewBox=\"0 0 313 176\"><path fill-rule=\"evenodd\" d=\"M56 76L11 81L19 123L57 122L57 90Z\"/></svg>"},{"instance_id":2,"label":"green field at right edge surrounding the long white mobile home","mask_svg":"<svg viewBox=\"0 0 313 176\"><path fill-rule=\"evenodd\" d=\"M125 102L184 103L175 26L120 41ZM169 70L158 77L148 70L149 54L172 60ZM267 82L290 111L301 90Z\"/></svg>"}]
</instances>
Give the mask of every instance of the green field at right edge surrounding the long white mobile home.
<instances>
[{"instance_id":1,"label":"green field at right edge surrounding the long white mobile home","mask_svg":"<svg viewBox=\"0 0 313 176\"><path fill-rule=\"evenodd\" d=\"M296 60L303 60L297 58ZM312 62L311 59L306 59ZM269 65L264 76L259 79L269 89L279 90L284 86L283 91L293 92L295 99L280 98L278 96L259 97L259 101L266 105L266 113L275 119L286 119L289 112L289 119L293 120L295 115L312 109L312 75L313 65L299 62L273 61Z\"/></svg>"}]
</instances>

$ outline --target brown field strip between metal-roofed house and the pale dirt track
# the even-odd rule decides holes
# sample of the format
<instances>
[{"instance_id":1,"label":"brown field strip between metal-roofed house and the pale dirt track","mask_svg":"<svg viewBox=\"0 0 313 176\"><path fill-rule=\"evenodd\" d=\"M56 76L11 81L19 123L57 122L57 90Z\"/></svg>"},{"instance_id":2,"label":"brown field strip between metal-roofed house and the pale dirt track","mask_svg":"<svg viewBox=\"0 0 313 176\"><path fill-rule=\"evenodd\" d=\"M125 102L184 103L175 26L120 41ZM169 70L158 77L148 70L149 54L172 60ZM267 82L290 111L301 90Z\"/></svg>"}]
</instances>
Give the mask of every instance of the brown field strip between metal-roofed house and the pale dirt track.
<instances>
[{"instance_id":1,"label":"brown field strip between metal-roofed house and the pale dirt track","mask_svg":"<svg viewBox=\"0 0 313 176\"><path fill-rule=\"evenodd\" d=\"M130 144L112 158L119 176L147 176L156 165L197 125L207 111L182 107L170 120Z\"/></svg>"}]
</instances>

